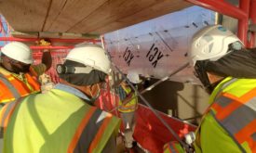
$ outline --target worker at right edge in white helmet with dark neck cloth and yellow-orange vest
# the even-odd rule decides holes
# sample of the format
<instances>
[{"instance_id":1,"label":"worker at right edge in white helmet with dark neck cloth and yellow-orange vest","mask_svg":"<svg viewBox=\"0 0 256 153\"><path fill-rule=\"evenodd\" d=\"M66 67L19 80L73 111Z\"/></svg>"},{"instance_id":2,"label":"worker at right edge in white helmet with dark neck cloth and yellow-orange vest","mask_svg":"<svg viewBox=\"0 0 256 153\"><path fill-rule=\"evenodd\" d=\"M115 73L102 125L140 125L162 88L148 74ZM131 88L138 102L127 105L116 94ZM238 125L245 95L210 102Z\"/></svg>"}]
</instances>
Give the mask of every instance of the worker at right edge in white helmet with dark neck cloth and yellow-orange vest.
<instances>
[{"instance_id":1,"label":"worker at right edge in white helmet with dark neck cloth and yellow-orange vest","mask_svg":"<svg viewBox=\"0 0 256 153\"><path fill-rule=\"evenodd\" d=\"M256 50L215 25L195 33L189 55L211 94L195 152L256 152Z\"/></svg>"}]
</instances>

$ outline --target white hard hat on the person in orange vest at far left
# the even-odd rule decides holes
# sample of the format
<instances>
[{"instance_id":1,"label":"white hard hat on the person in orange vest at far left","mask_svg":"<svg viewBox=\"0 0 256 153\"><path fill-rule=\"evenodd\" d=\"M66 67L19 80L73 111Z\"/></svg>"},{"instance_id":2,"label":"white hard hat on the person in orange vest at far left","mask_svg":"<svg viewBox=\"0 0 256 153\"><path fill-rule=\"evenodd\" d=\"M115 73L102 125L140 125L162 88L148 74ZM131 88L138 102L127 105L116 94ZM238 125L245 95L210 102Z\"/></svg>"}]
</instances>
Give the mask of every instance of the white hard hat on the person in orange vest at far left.
<instances>
[{"instance_id":1,"label":"white hard hat on the person in orange vest at far left","mask_svg":"<svg viewBox=\"0 0 256 153\"><path fill-rule=\"evenodd\" d=\"M28 45L24 45L20 42L11 42L1 48L2 53L7 57L18 60L22 63L32 64L34 58L32 57L32 50Z\"/></svg>"}]
</instances>

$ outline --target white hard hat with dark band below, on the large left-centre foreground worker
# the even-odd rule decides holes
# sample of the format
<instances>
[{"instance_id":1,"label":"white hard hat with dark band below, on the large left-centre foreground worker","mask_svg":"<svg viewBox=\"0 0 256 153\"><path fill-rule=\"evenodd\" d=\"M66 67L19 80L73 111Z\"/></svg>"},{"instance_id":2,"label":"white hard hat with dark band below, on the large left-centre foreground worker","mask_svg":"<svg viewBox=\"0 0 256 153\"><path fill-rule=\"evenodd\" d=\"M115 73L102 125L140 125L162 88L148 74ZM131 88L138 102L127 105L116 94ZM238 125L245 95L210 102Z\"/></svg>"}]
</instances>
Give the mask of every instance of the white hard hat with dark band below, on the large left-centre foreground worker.
<instances>
[{"instance_id":1,"label":"white hard hat with dark band below, on the large left-centre foreground worker","mask_svg":"<svg viewBox=\"0 0 256 153\"><path fill-rule=\"evenodd\" d=\"M94 70L100 70L106 74L111 71L111 62L106 52L99 45L77 45L65 59L82 63Z\"/></svg>"}]
</instances>

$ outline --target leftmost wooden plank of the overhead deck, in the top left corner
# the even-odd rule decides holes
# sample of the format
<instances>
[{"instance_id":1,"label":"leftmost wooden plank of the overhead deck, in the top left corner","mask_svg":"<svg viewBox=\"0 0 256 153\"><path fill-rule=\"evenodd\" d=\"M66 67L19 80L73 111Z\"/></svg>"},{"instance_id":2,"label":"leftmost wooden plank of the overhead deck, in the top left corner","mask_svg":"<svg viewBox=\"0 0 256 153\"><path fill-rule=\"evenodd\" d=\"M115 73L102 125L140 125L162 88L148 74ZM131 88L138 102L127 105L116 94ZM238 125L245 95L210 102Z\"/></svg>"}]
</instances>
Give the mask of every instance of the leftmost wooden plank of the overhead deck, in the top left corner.
<instances>
[{"instance_id":1,"label":"leftmost wooden plank of the overhead deck, in the top left corner","mask_svg":"<svg viewBox=\"0 0 256 153\"><path fill-rule=\"evenodd\" d=\"M0 3L0 11L14 30L38 32L47 17L50 0L5 0Z\"/></svg>"}]
</instances>

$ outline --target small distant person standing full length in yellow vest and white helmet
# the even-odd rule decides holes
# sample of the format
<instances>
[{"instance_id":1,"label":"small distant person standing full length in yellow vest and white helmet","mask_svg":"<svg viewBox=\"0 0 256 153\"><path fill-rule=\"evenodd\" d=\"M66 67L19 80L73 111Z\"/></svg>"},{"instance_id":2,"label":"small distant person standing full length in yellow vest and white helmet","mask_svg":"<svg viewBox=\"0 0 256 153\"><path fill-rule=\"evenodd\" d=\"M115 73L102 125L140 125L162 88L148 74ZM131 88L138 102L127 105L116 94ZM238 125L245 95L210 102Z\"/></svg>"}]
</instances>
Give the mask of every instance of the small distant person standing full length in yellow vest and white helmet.
<instances>
[{"instance_id":1,"label":"small distant person standing full length in yellow vest and white helmet","mask_svg":"<svg viewBox=\"0 0 256 153\"><path fill-rule=\"evenodd\" d=\"M130 83L134 84L134 86L136 86L138 83L141 83L139 74L136 72L128 72L127 78ZM118 110L124 125L125 147L129 149L133 147L132 134L135 128L134 112L138 108L138 98L134 97L136 96L135 92L132 91L126 82L120 83L117 91L120 98Z\"/></svg>"}]
</instances>

